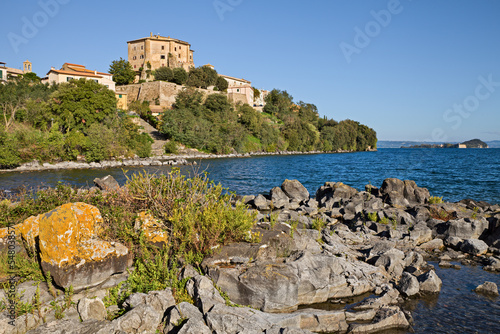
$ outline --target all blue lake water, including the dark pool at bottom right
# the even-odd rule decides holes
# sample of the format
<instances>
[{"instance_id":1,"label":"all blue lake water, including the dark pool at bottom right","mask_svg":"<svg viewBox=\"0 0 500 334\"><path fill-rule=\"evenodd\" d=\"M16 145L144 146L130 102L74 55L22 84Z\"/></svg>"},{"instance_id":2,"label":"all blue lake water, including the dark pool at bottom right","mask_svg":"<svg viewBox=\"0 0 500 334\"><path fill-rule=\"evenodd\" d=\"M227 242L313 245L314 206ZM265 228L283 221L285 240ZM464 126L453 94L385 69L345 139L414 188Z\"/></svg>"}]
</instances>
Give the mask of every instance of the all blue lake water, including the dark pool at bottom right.
<instances>
[{"instance_id":1,"label":"all blue lake water, including the dark pool at bottom right","mask_svg":"<svg viewBox=\"0 0 500 334\"><path fill-rule=\"evenodd\" d=\"M146 170L165 173L170 167L127 167L127 175ZM262 156L198 161L183 166L185 173L207 171L210 178L238 194L266 193L285 179L298 179L311 194L326 181L341 181L358 190L385 178L414 180L446 201L464 198L500 203L500 149L380 149L378 152ZM0 173L0 189L54 186L58 182L91 186L96 177L113 175L120 184L122 168ZM500 333L500 298L489 299L471 290L485 281L500 286L500 275L478 267L436 271L443 280L439 296L411 303L416 333Z\"/></svg>"}]
</instances>

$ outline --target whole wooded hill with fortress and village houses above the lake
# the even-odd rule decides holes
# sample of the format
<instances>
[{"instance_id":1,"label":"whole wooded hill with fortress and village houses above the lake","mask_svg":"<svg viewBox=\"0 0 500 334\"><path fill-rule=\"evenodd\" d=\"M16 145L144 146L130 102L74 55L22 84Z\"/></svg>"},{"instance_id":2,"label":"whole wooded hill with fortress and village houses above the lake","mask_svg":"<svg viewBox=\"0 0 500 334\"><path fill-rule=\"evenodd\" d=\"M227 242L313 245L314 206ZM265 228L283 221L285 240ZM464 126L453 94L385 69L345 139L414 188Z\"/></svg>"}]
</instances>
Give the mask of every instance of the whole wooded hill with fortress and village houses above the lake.
<instances>
[{"instance_id":1,"label":"whole wooded hill with fortress and village houses above the lake","mask_svg":"<svg viewBox=\"0 0 500 334\"><path fill-rule=\"evenodd\" d=\"M376 149L375 131L359 122L320 117L286 90L196 67L186 41L150 33L127 45L127 59L108 70L66 62L40 78L28 60L22 70L0 63L0 169Z\"/></svg>"}]
</instances>

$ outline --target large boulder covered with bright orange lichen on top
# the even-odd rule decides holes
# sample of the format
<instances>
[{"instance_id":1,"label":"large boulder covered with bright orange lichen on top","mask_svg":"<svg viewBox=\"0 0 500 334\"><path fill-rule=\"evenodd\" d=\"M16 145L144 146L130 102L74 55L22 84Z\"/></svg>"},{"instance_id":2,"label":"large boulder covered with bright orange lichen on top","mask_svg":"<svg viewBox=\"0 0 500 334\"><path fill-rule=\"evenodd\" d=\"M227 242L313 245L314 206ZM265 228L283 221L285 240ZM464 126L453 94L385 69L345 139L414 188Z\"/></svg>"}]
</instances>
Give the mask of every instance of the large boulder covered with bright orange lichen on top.
<instances>
[{"instance_id":1,"label":"large boulder covered with bright orange lichen on top","mask_svg":"<svg viewBox=\"0 0 500 334\"><path fill-rule=\"evenodd\" d=\"M99 210L85 203L64 204L40 215L42 268L58 286L79 291L125 271L128 249L101 240L102 223Z\"/></svg>"}]
</instances>

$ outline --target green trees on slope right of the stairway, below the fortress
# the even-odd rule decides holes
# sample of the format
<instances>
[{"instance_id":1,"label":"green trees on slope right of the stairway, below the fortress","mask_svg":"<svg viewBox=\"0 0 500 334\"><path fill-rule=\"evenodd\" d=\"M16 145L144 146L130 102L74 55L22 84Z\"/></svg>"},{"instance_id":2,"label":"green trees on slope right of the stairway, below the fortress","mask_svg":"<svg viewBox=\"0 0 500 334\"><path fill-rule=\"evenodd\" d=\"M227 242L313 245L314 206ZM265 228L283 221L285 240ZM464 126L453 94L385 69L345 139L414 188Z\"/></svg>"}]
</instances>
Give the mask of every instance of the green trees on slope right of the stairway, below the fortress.
<instances>
[{"instance_id":1,"label":"green trees on slope right of the stairway, below the fortress","mask_svg":"<svg viewBox=\"0 0 500 334\"><path fill-rule=\"evenodd\" d=\"M169 139L211 153L276 151L365 151L377 145L376 132L352 120L320 118L314 104L294 103L273 90L263 113L234 107L223 94L207 97L186 89L167 110L159 130Z\"/></svg>"}]
</instances>

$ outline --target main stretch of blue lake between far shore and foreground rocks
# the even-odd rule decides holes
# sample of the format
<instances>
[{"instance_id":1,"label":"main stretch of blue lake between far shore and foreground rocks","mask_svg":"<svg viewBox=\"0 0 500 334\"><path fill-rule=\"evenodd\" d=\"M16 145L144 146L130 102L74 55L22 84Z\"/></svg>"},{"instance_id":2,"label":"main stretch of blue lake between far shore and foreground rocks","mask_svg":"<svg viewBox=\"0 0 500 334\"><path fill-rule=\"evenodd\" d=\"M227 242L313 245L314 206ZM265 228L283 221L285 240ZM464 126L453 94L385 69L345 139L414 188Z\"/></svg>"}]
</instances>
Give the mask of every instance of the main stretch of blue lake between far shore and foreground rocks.
<instances>
[{"instance_id":1,"label":"main stretch of blue lake between far shore and foreground rocks","mask_svg":"<svg viewBox=\"0 0 500 334\"><path fill-rule=\"evenodd\" d=\"M127 174L147 170L168 172L171 167L127 167ZM193 169L238 194L268 192L285 179L298 179L311 194L326 181L341 181L358 190L381 186L389 177L414 180L433 196L447 201L464 198L500 203L500 149L380 149L378 152L260 156L198 161ZM54 186L58 182L91 186L96 177L113 175L126 181L122 168L0 173L0 189Z\"/></svg>"}]
</instances>

